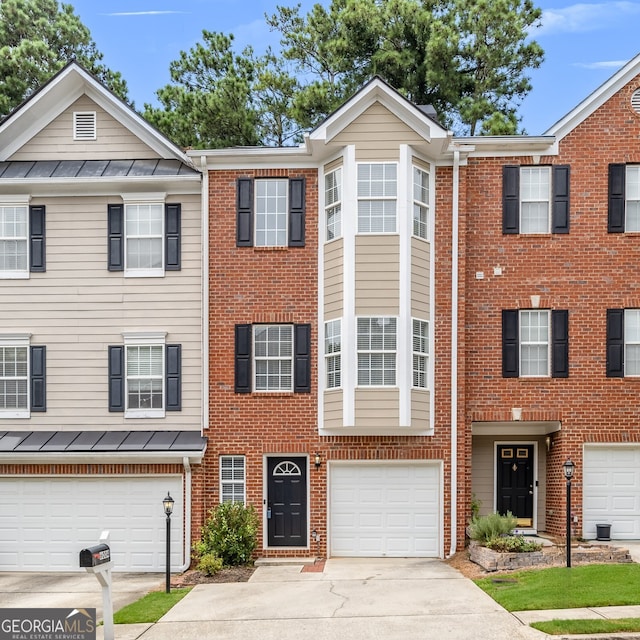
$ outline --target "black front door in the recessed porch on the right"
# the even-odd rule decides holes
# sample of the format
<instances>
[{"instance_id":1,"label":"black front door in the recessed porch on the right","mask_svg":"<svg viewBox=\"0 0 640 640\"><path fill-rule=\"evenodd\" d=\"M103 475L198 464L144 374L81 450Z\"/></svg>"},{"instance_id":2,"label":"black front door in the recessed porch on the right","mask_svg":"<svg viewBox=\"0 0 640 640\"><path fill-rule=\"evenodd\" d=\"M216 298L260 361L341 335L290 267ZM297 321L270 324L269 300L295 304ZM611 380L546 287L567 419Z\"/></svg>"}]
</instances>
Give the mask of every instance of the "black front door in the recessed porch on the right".
<instances>
[{"instance_id":1,"label":"black front door in the recessed porch on the right","mask_svg":"<svg viewBox=\"0 0 640 640\"><path fill-rule=\"evenodd\" d=\"M533 526L533 445L498 445L498 511L510 511L518 526Z\"/></svg>"}]
</instances>

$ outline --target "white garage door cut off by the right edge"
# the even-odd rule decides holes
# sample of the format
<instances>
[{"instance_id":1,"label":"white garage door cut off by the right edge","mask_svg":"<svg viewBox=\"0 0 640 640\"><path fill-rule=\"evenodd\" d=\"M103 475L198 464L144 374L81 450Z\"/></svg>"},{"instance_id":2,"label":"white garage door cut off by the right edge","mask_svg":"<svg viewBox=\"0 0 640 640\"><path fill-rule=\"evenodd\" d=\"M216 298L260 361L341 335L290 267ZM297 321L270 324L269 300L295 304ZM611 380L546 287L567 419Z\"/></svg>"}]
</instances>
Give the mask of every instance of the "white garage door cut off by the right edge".
<instances>
[{"instance_id":1,"label":"white garage door cut off by the right edge","mask_svg":"<svg viewBox=\"0 0 640 640\"><path fill-rule=\"evenodd\" d=\"M612 538L640 538L640 447L585 447L583 503L585 538L596 524L610 524Z\"/></svg>"}]
</instances>

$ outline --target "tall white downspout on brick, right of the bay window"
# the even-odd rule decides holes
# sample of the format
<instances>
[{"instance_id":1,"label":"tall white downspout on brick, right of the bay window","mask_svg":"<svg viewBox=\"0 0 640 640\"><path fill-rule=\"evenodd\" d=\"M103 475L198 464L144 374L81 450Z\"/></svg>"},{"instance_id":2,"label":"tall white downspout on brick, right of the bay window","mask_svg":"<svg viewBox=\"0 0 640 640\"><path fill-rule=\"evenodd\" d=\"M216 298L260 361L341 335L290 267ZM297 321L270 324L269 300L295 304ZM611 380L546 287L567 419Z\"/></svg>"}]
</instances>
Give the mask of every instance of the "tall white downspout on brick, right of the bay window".
<instances>
[{"instance_id":1,"label":"tall white downspout on brick, right of the bay window","mask_svg":"<svg viewBox=\"0 0 640 640\"><path fill-rule=\"evenodd\" d=\"M458 530L458 198L460 151L453 152L453 184L451 206L451 546L457 548Z\"/></svg>"}]
</instances>

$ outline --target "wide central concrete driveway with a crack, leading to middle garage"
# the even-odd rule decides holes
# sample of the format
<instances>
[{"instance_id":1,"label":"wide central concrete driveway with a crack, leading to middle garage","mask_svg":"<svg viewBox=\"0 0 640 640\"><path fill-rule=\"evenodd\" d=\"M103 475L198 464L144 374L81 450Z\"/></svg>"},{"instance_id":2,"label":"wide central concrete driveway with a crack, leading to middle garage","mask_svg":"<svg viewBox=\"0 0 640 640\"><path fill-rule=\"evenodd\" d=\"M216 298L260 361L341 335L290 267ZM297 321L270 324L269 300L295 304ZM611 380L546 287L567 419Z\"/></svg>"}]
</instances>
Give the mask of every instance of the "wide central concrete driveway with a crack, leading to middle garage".
<instances>
[{"instance_id":1,"label":"wide central concrete driveway with a crack, leading to middle garage","mask_svg":"<svg viewBox=\"0 0 640 640\"><path fill-rule=\"evenodd\" d=\"M544 637L438 560L328 560L322 573L259 567L249 582L198 585L151 626L116 640L370 640Z\"/></svg>"}]
</instances>

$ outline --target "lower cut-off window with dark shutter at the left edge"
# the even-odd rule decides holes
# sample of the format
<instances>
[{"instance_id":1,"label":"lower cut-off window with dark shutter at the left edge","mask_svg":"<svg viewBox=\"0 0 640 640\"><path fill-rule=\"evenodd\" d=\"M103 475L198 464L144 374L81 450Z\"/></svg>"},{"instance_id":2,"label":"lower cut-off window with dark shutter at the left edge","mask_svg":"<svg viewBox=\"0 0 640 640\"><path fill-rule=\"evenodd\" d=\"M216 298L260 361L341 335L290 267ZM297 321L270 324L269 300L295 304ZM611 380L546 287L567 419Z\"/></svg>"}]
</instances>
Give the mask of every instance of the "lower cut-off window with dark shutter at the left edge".
<instances>
[{"instance_id":1,"label":"lower cut-off window with dark shutter at the left edge","mask_svg":"<svg viewBox=\"0 0 640 640\"><path fill-rule=\"evenodd\" d=\"M28 335L0 336L0 418L46 411L46 348Z\"/></svg>"}]
</instances>

